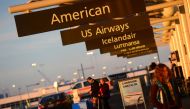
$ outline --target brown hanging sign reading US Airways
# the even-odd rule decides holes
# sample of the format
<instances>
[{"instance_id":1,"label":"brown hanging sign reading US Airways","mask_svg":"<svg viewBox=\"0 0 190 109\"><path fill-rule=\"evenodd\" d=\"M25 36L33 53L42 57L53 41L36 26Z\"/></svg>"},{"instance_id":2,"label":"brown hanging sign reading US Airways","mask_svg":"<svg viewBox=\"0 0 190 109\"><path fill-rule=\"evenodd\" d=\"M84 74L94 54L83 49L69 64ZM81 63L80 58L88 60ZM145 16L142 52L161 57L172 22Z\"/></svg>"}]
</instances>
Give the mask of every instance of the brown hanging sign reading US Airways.
<instances>
[{"instance_id":1,"label":"brown hanging sign reading US Airways","mask_svg":"<svg viewBox=\"0 0 190 109\"><path fill-rule=\"evenodd\" d=\"M75 29L61 31L63 45L74 44L101 37L119 35L126 32L149 27L148 15L130 16L120 20L110 20L95 25L79 26Z\"/></svg>"}]
</instances>

